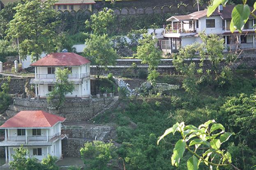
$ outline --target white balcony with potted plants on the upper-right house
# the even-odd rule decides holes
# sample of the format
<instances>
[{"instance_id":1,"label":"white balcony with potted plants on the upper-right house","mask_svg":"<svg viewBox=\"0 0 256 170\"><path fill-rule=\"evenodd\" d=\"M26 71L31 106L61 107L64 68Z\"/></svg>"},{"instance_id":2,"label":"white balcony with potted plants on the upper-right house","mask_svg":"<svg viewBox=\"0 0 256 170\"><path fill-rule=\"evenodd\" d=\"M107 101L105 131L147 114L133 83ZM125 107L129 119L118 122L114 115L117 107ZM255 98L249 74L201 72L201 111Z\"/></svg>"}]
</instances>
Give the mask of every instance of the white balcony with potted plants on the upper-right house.
<instances>
[{"instance_id":1,"label":"white balcony with potted plants on the upper-right house","mask_svg":"<svg viewBox=\"0 0 256 170\"><path fill-rule=\"evenodd\" d=\"M193 36L196 29L164 29L165 37Z\"/></svg>"}]
</instances>

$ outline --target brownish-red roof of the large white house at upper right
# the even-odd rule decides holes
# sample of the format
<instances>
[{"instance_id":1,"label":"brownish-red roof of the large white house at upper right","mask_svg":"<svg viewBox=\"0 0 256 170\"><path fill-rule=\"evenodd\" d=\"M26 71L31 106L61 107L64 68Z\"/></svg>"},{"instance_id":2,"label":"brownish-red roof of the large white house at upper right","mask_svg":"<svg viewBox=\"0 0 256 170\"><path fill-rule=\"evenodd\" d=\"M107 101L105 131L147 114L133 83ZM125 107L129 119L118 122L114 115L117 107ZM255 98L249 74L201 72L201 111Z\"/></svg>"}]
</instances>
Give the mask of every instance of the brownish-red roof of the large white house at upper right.
<instances>
[{"instance_id":1,"label":"brownish-red roof of the large white house at upper right","mask_svg":"<svg viewBox=\"0 0 256 170\"><path fill-rule=\"evenodd\" d=\"M219 12L218 8L212 13L211 16L221 16L223 19L231 19L232 10L236 5L226 5L223 7L223 11ZM253 10L252 7L250 7L251 11ZM256 12L254 12L256 14ZM172 16L171 18L168 18L167 21L171 20L172 18L177 18L178 20L193 20L193 19L199 19L207 15L207 9L204 9L202 11L196 11L188 15L183 16ZM252 18L252 16L250 16Z\"/></svg>"}]
</instances>

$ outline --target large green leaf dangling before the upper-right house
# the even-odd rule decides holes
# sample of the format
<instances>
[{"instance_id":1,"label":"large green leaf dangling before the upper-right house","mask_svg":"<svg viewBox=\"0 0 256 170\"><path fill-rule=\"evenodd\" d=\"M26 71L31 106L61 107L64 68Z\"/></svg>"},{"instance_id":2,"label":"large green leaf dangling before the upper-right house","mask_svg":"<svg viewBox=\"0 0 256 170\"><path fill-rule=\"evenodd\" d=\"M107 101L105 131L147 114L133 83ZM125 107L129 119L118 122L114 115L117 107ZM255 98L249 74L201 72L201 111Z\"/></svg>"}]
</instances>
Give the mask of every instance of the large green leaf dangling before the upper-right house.
<instances>
[{"instance_id":1,"label":"large green leaf dangling before the upper-right house","mask_svg":"<svg viewBox=\"0 0 256 170\"><path fill-rule=\"evenodd\" d=\"M247 22L250 16L250 7L248 5L236 5L232 11L232 20L233 28L231 28L231 32L234 32L234 29L238 29L239 32L242 32L242 28L244 24Z\"/></svg>"}]
</instances>

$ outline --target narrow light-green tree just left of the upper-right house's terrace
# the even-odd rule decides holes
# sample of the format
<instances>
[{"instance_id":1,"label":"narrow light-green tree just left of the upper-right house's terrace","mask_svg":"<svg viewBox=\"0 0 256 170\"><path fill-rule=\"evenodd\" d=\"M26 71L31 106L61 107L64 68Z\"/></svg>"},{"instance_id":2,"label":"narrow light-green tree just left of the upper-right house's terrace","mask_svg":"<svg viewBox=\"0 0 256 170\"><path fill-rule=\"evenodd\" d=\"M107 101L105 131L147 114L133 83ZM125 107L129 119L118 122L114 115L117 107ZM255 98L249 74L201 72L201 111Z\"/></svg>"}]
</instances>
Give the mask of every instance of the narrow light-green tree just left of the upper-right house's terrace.
<instances>
[{"instance_id":1,"label":"narrow light-green tree just left of the upper-right house's terrace","mask_svg":"<svg viewBox=\"0 0 256 170\"><path fill-rule=\"evenodd\" d=\"M152 35L143 34L143 38L138 40L139 45L137 47L137 56L141 59L141 63L148 64L148 79L150 82L155 82L157 74L157 66L162 57L162 52L157 48L157 39L153 38Z\"/></svg>"}]
</instances>

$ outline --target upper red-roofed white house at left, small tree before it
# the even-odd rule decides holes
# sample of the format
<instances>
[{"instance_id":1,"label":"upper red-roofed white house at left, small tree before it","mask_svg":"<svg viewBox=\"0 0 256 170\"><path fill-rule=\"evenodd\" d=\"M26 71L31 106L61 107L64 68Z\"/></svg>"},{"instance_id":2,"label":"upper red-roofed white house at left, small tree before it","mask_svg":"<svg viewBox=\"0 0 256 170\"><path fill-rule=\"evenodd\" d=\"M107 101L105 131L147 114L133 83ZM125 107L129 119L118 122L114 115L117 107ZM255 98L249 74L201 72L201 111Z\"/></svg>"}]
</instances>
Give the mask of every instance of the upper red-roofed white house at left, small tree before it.
<instances>
[{"instance_id":1,"label":"upper red-roofed white house at left, small tree before it","mask_svg":"<svg viewBox=\"0 0 256 170\"><path fill-rule=\"evenodd\" d=\"M51 53L39 59L30 66L35 67L35 79L30 84L35 84L35 94L38 97L47 97L53 90L56 82L56 68L68 68L71 74L69 81L74 83L74 91L66 97L88 97L90 95L90 61L73 52Z\"/></svg>"}]
</instances>

